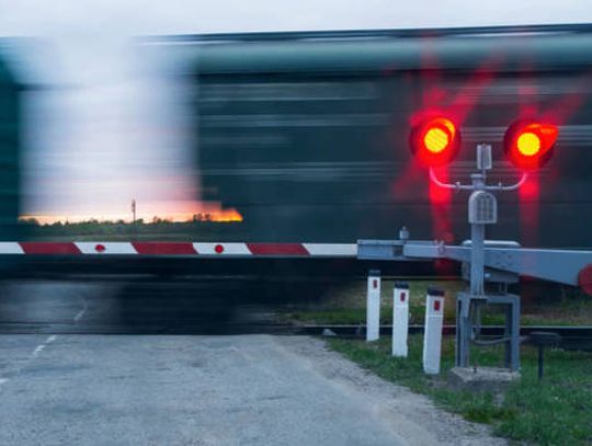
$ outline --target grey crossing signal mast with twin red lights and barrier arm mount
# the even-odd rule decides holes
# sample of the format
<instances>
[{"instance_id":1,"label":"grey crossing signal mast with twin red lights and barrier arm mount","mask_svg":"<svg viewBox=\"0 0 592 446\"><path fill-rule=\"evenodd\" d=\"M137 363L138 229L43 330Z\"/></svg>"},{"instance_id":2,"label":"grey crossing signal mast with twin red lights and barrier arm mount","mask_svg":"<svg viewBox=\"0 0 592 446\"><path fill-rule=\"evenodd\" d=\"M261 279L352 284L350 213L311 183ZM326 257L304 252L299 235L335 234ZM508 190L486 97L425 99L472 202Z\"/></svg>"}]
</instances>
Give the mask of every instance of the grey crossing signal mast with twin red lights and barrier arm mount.
<instances>
[{"instance_id":1,"label":"grey crossing signal mast with twin red lights and barrier arm mount","mask_svg":"<svg viewBox=\"0 0 592 446\"><path fill-rule=\"evenodd\" d=\"M463 276L468 282L456 299L456 366L469 366L470 344L505 345L505 367L520 369L520 297L508 293L508 285L528 275L567 285L580 285L590 291L592 251L523 249L515 241L488 241L486 225L498 221L498 202L493 192L520 188L528 172L545 165L553 157L558 129L536 121L516 121L505 131L503 150L506 159L522 171L521 179L510 185L488 184L487 172L492 169L491 146L476 147L477 172L470 184L446 183L434 170L446 165L458 155L460 131L443 115L431 116L411 128L409 142L414 159L429 169L429 178L440 187L470 192L468 222L470 241L462 245L443 242L408 240L403 228L399 240L358 240L357 258L363 260L406 261L418 259L449 259L462 262ZM557 267L560 264L562 267ZM498 340L482 340L481 308L485 305L505 307L505 331Z\"/></svg>"}]
</instances>

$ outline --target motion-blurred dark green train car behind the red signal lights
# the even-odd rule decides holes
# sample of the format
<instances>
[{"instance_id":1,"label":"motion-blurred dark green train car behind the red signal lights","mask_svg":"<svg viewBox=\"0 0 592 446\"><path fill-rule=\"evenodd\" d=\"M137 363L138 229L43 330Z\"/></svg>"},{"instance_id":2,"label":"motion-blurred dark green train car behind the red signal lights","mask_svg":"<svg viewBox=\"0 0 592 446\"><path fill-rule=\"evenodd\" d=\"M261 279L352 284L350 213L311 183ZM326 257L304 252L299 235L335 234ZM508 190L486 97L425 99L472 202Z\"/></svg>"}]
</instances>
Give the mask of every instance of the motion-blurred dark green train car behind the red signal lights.
<instances>
[{"instance_id":1,"label":"motion-blurred dark green train car behind the red signal lights","mask_svg":"<svg viewBox=\"0 0 592 446\"><path fill-rule=\"evenodd\" d=\"M463 133L439 174L467 180L475 146L491 179L520 172L505 129L559 126L554 159L500 194L488 238L592 247L592 26L303 32L171 37L191 67L196 176L204 199L243 216L234 240L355 242L468 237L466 195L430 185L408 149L411 123L439 112Z\"/></svg>"}]
</instances>

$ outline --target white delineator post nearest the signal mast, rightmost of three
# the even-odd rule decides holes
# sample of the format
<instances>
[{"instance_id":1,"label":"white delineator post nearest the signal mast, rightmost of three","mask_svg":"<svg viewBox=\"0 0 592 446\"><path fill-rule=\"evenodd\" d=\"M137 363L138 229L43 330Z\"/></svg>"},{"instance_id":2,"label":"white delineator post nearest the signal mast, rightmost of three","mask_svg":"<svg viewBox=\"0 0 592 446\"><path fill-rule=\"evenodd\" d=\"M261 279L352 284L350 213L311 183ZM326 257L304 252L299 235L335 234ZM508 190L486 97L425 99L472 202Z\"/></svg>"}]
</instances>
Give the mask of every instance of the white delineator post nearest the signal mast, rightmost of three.
<instances>
[{"instance_id":1,"label":"white delineator post nearest the signal mast, rightmost of three","mask_svg":"<svg viewBox=\"0 0 592 446\"><path fill-rule=\"evenodd\" d=\"M423 334L423 371L440 373L442 325L444 321L444 291L429 288L425 298L425 324Z\"/></svg>"}]
</instances>

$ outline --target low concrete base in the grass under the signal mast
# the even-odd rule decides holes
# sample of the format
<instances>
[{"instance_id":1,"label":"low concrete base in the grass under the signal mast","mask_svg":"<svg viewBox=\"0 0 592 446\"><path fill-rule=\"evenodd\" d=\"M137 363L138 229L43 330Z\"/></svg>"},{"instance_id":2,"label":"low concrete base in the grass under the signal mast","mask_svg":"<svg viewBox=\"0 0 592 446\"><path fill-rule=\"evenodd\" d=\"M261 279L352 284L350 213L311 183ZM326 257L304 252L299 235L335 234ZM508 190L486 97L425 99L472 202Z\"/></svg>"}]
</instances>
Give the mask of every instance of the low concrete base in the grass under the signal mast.
<instances>
[{"instance_id":1,"label":"low concrete base in the grass under the signal mast","mask_svg":"<svg viewBox=\"0 0 592 446\"><path fill-rule=\"evenodd\" d=\"M448 373L448 386L456 390L499 392L520 379L519 371L494 367L454 367Z\"/></svg>"}]
</instances>

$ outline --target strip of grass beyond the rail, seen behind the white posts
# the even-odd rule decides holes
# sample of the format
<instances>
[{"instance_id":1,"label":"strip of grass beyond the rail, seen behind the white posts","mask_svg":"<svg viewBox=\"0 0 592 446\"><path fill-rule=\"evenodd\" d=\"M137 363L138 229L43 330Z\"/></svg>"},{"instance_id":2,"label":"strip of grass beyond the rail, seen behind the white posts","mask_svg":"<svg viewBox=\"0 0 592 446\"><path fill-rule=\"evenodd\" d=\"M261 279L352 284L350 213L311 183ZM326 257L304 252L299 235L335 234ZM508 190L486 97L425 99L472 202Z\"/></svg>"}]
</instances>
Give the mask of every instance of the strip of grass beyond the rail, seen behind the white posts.
<instances>
[{"instance_id":1,"label":"strip of grass beyond the rail, seen behind the white posts","mask_svg":"<svg viewBox=\"0 0 592 446\"><path fill-rule=\"evenodd\" d=\"M434 282L410 282L410 323L421 324L425 313L425 293ZM464 288L459 281L442 281L435 285L445 290L444 321L455 323L456 294ZM383 281L380 323L391 323L392 281ZM351 323L366 322L366 283L360 281L339 288L328 289L323 296L308 305L292 309L284 318L297 323ZM483 312L483 323L501 324L499 308ZM530 325L592 324L592 298L577 290L557 288L549 293L530 293L522 298L522 323Z\"/></svg>"}]
</instances>

